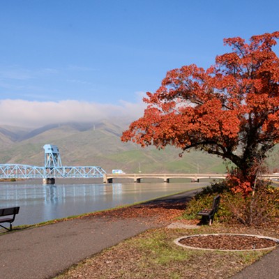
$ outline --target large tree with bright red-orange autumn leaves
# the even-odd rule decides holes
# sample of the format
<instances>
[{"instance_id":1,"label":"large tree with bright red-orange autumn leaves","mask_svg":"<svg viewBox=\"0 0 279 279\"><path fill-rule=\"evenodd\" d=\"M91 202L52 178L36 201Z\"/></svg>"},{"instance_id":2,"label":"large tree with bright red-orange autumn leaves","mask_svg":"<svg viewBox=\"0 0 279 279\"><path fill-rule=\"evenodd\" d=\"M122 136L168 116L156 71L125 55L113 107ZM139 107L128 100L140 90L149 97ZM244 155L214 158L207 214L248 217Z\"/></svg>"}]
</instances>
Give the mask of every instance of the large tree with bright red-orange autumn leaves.
<instances>
[{"instance_id":1,"label":"large tree with bright red-orange autumn leaves","mask_svg":"<svg viewBox=\"0 0 279 279\"><path fill-rule=\"evenodd\" d=\"M197 149L228 159L238 168L239 187L252 190L266 153L279 142L279 59L272 48L279 31L227 38L232 52L204 70L170 70L148 107L121 140L142 146Z\"/></svg>"}]
</instances>

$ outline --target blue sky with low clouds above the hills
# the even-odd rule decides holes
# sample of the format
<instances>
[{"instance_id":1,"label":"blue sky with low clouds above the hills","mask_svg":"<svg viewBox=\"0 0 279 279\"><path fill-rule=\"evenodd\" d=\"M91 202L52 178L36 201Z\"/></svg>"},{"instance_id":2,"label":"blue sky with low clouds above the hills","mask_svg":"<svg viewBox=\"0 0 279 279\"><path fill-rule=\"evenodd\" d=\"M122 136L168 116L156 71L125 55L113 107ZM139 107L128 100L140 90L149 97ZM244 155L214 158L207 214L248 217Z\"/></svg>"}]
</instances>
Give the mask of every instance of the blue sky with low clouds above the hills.
<instances>
[{"instance_id":1,"label":"blue sky with low clouds above the hills","mask_svg":"<svg viewBox=\"0 0 279 279\"><path fill-rule=\"evenodd\" d=\"M278 10L277 0L0 0L0 124L140 116L167 70L207 68L229 50L223 38L279 30Z\"/></svg>"}]
</instances>

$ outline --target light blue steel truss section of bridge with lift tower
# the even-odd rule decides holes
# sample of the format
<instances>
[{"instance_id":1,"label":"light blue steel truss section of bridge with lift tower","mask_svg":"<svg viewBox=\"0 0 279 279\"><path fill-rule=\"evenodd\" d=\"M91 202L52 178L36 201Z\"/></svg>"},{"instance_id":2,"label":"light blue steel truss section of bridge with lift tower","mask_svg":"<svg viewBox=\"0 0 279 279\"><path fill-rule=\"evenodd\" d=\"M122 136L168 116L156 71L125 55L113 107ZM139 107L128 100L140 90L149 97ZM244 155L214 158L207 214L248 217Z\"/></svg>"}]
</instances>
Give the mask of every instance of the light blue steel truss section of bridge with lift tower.
<instances>
[{"instance_id":1,"label":"light blue steel truss section of bridge with lift tower","mask_svg":"<svg viewBox=\"0 0 279 279\"><path fill-rule=\"evenodd\" d=\"M106 174L98 166L63 166L59 149L45 144L45 166L0 164L0 179L43 179L43 183L54 184L56 178L103 178Z\"/></svg>"}]
</instances>

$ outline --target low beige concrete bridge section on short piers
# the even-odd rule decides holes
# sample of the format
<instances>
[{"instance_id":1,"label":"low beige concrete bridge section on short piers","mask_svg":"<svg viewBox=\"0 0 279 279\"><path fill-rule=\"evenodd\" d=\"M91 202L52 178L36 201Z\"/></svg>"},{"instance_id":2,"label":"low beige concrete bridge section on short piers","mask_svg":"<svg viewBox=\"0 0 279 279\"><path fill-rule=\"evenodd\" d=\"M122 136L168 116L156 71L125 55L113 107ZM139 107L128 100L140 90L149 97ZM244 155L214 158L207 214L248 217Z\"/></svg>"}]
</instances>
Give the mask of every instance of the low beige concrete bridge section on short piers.
<instances>
[{"instance_id":1,"label":"low beige concrete bridge section on short piers","mask_svg":"<svg viewBox=\"0 0 279 279\"><path fill-rule=\"evenodd\" d=\"M103 183L112 183L114 179L132 179L134 183L140 183L142 179L163 179L169 183L170 179L191 179L199 182L200 179L225 179L227 174L104 174ZM262 174L266 180L279 179L279 174Z\"/></svg>"}]
</instances>

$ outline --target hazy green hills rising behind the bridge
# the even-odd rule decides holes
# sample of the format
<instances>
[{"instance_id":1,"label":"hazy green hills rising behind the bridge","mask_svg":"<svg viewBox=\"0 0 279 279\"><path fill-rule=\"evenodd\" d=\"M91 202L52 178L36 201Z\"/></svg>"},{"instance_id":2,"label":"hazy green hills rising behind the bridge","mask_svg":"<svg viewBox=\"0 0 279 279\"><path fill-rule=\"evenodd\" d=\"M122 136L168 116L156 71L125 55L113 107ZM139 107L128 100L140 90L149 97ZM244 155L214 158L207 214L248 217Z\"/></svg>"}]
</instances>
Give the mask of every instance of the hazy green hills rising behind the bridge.
<instances>
[{"instance_id":1,"label":"hazy green hills rising behind the bridge","mask_svg":"<svg viewBox=\"0 0 279 279\"><path fill-rule=\"evenodd\" d=\"M0 163L44 165L45 144L59 146L63 165L98 165L106 172L146 173L223 173L223 160L209 154L190 151L179 157L180 150L172 146L164 150L142 149L133 143L123 143L120 136L127 123L63 123L31 130L0 127ZM278 149L269 158L271 168L278 166Z\"/></svg>"}]
</instances>

